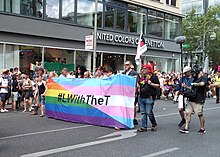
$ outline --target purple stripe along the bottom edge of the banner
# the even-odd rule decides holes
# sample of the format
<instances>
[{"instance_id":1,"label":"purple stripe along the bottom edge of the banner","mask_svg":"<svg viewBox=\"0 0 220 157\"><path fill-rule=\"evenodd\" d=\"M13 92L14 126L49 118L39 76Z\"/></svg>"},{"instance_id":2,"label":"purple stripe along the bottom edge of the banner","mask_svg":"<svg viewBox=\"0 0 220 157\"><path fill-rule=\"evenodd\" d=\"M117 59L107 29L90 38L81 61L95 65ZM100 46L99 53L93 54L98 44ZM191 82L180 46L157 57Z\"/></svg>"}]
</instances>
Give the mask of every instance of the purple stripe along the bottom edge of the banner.
<instances>
[{"instance_id":1,"label":"purple stripe along the bottom edge of the banner","mask_svg":"<svg viewBox=\"0 0 220 157\"><path fill-rule=\"evenodd\" d=\"M56 119L61 119L70 122L77 122L77 123L85 123L85 124L92 124L92 125L99 125L99 126L107 126L107 127L118 127L122 129L128 129L127 126L124 124L112 119L112 118L100 118L100 117L92 117L92 116L80 116L80 115L73 115L73 114L66 114L60 112L54 112L50 110L46 110L46 115L48 117L53 117Z\"/></svg>"}]
</instances>

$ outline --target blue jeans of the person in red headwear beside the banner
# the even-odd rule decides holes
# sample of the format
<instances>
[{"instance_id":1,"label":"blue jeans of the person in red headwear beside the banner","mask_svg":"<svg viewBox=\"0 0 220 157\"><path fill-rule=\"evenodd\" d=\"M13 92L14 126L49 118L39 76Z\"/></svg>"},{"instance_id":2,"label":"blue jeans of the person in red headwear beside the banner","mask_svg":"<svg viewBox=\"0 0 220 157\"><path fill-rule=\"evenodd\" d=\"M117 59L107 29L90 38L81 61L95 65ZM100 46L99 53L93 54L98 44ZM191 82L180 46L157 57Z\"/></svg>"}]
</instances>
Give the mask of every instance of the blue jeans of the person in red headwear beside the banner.
<instances>
[{"instance_id":1,"label":"blue jeans of the person in red headwear beside the banner","mask_svg":"<svg viewBox=\"0 0 220 157\"><path fill-rule=\"evenodd\" d=\"M156 120L153 113L154 100L151 98L138 98L138 104L141 110L142 127L147 128L147 116L149 117L152 126L156 126Z\"/></svg>"}]
</instances>

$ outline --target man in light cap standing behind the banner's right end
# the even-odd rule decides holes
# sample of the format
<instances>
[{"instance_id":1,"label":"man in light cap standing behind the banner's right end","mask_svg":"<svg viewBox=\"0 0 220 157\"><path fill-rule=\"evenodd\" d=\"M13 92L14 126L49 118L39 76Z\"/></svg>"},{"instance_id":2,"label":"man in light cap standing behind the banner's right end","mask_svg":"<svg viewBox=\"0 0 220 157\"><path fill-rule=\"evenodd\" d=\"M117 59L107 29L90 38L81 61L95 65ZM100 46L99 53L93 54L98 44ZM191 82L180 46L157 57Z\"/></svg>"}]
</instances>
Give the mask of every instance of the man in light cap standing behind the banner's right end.
<instances>
[{"instance_id":1,"label":"man in light cap standing behind the banner's right end","mask_svg":"<svg viewBox=\"0 0 220 157\"><path fill-rule=\"evenodd\" d=\"M122 72L122 74L134 76L137 77L138 73L134 70L134 65L131 63L131 61L126 61L124 64L125 71ZM138 121L136 119L136 104L138 102L138 93L136 91L135 93L135 101L134 101L134 125L138 125Z\"/></svg>"}]
</instances>

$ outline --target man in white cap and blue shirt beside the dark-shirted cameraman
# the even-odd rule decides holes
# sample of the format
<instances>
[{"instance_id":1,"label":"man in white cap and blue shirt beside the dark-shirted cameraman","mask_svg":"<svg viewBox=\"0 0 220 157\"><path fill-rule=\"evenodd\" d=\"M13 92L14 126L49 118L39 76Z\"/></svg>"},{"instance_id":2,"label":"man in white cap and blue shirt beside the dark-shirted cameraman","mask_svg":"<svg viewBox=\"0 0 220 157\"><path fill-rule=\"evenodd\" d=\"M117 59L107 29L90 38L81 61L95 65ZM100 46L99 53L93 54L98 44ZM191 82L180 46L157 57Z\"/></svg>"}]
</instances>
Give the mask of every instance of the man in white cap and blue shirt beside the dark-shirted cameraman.
<instances>
[{"instance_id":1,"label":"man in white cap and blue shirt beside the dark-shirted cameraman","mask_svg":"<svg viewBox=\"0 0 220 157\"><path fill-rule=\"evenodd\" d=\"M193 81L193 78L191 76L191 67L185 66L183 68L183 74L184 76L180 78L178 85L175 88L175 91L178 91L178 110L181 117L181 121L178 124L179 127L182 127L186 123L184 110L185 110L185 103L187 98L184 97L183 92L186 90L183 86L190 87L191 83Z\"/></svg>"}]
</instances>

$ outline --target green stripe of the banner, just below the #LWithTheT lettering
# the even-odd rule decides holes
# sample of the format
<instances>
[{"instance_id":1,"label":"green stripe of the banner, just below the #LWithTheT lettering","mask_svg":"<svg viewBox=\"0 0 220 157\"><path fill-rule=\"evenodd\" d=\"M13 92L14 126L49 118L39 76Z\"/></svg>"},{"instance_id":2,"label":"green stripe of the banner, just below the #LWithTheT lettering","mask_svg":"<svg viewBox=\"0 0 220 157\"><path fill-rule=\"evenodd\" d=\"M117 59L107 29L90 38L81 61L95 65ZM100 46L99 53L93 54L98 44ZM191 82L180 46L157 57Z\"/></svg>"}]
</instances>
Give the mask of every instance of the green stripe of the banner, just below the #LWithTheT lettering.
<instances>
[{"instance_id":1,"label":"green stripe of the banner, just below the #LWithTheT lettering","mask_svg":"<svg viewBox=\"0 0 220 157\"><path fill-rule=\"evenodd\" d=\"M67 101L67 99L65 99ZM87 103L75 103L75 99L71 102L63 102L62 100L58 101L57 97L51 97L51 96L46 96L46 103L51 103L51 104L62 104L64 106L75 106L75 107L83 107L83 108L93 108L91 105Z\"/></svg>"}]
</instances>

